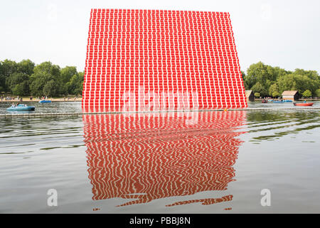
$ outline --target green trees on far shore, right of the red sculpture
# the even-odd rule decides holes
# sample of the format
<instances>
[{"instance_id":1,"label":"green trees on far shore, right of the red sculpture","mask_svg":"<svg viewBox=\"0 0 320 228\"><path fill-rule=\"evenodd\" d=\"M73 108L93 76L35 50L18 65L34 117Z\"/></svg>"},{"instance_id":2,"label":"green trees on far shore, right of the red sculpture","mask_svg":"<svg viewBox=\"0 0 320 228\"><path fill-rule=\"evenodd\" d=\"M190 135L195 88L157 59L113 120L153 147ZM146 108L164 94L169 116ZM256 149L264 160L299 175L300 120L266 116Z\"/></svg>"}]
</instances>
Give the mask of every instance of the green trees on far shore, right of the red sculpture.
<instances>
[{"instance_id":1,"label":"green trees on far shore, right of the red sculpture","mask_svg":"<svg viewBox=\"0 0 320 228\"><path fill-rule=\"evenodd\" d=\"M247 74L242 71L242 79L245 90L252 90L256 97L277 98L284 90L298 90L304 97L320 98L320 76L317 71L286 71L258 62L247 69Z\"/></svg>"}]
</instances>

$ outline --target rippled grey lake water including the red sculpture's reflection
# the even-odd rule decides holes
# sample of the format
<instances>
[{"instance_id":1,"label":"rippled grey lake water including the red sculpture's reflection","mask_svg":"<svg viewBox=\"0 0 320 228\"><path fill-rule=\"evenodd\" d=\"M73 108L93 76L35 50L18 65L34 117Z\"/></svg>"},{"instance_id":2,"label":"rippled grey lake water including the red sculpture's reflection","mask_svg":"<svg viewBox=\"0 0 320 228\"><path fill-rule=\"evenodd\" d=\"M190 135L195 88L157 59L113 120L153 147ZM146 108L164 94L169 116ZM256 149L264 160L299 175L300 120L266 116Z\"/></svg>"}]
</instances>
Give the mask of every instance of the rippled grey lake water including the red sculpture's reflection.
<instances>
[{"instance_id":1,"label":"rippled grey lake water including the red sculpture's reflection","mask_svg":"<svg viewBox=\"0 0 320 228\"><path fill-rule=\"evenodd\" d=\"M249 105L270 107L292 103ZM319 213L319 120L311 109L1 117L0 213Z\"/></svg>"}]
</instances>

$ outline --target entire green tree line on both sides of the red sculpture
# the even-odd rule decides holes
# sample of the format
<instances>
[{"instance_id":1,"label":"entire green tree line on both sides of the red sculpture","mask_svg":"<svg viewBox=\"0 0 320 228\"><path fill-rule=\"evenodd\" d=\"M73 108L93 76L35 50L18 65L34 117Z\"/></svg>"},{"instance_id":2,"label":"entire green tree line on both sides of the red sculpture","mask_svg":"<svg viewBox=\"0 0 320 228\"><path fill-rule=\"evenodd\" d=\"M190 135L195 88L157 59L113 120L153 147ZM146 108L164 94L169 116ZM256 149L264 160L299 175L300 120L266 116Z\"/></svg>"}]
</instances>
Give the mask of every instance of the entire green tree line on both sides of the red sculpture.
<instances>
[{"instance_id":1,"label":"entire green tree line on both sides of the red sculpture","mask_svg":"<svg viewBox=\"0 0 320 228\"><path fill-rule=\"evenodd\" d=\"M19 63L0 61L0 93L19 96L81 95L84 72L75 66L53 65L49 61L35 65L31 60ZM320 76L316 71L286 71L262 62L242 71L246 90L257 97L279 97L284 90L298 90L304 97L320 97Z\"/></svg>"}]
</instances>

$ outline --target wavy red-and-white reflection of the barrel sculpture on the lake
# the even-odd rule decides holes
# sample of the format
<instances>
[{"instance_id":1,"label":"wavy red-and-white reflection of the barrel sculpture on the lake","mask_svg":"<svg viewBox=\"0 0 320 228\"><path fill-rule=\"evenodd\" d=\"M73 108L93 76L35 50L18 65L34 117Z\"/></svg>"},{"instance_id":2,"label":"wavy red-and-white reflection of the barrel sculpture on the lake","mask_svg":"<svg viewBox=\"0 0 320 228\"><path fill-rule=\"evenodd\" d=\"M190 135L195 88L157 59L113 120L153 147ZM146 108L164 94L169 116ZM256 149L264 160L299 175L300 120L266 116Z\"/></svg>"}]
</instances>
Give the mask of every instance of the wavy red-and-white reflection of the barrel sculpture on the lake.
<instances>
[{"instance_id":1,"label":"wavy red-and-white reflection of the barrel sculpture on the lake","mask_svg":"<svg viewBox=\"0 0 320 228\"><path fill-rule=\"evenodd\" d=\"M153 199L226 190L245 112L83 115L92 199ZM195 199L176 204L232 200Z\"/></svg>"}]
</instances>

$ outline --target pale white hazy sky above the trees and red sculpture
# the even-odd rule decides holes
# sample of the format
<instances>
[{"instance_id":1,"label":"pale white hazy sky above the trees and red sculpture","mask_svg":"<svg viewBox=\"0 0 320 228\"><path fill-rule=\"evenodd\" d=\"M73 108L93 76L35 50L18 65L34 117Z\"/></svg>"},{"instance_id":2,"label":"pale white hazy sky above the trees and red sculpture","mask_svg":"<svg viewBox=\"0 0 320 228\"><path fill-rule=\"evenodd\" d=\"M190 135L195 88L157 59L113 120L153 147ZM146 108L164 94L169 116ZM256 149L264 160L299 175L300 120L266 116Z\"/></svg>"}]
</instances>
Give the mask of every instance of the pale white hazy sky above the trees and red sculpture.
<instances>
[{"instance_id":1,"label":"pale white hazy sky above the trees and red sculpture","mask_svg":"<svg viewBox=\"0 0 320 228\"><path fill-rule=\"evenodd\" d=\"M320 1L0 0L0 60L85 68L90 9L228 11L240 66L262 61L320 73Z\"/></svg>"}]
</instances>

